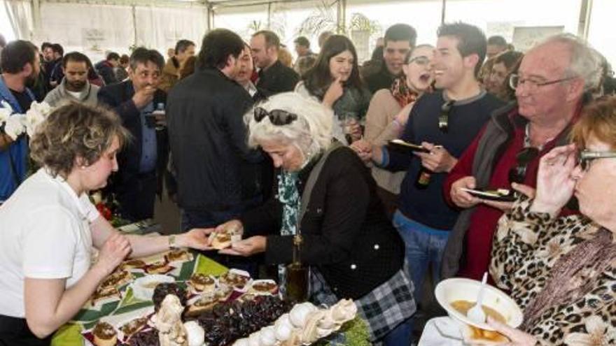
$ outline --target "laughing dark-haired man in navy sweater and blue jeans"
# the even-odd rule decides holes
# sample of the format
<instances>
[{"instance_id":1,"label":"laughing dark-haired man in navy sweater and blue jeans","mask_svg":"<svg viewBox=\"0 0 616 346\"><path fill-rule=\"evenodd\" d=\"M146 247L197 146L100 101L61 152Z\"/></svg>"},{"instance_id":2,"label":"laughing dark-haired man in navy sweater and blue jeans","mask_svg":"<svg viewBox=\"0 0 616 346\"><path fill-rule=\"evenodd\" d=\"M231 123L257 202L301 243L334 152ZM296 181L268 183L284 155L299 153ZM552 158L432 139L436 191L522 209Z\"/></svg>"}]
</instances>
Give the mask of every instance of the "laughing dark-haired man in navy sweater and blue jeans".
<instances>
[{"instance_id":1,"label":"laughing dark-haired man in navy sweater and blue jeans","mask_svg":"<svg viewBox=\"0 0 616 346\"><path fill-rule=\"evenodd\" d=\"M407 172L393 224L407 247L416 301L421 301L421 287L430 264L434 283L440 280L444 247L458 216L442 194L447 173L491 112L503 106L477 81L486 54L483 32L470 24L442 24L437 36L433 58L437 91L423 94L416 101L400 137L428 152L409 155L388 147L371 148L376 164Z\"/></svg>"}]
</instances>

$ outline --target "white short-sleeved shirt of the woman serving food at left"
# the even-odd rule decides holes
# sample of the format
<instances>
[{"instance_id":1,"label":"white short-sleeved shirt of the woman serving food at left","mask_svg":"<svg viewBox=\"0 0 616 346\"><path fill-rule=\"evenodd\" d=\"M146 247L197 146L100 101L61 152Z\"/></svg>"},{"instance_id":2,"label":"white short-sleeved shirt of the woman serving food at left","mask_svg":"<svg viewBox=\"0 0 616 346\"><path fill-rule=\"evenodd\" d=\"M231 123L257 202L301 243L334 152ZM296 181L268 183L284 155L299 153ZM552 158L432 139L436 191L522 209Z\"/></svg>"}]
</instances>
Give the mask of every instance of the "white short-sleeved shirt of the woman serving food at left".
<instances>
[{"instance_id":1,"label":"white short-sleeved shirt of the woman serving food at left","mask_svg":"<svg viewBox=\"0 0 616 346\"><path fill-rule=\"evenodd\" d=\"M87 194L44 168L23 182L0 207L0 315L25 317L25 277L76 283L90 268L99 216Z\"/></svg>"}]
</instances>

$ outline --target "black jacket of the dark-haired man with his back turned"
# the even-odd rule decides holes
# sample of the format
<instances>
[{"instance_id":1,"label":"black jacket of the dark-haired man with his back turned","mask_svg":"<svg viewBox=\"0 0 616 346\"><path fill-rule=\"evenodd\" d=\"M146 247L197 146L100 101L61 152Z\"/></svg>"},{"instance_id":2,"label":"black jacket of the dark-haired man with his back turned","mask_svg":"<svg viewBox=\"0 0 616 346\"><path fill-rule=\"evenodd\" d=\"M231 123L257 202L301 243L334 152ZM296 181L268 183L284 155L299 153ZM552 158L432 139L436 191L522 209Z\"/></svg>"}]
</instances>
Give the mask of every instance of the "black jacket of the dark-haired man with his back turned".
<instances>
[{"instance_id":1,"label":"black jacket of the dark-haired man with his back turned","mask_svg":"<svg viewBox=\"0 0 616 346\"><path fill-rule=\"evenodd\" d=\"M169 92L169 144L183 210L225 211L260 196L263 157L248 149L244 124L252 103L218 69L196 71Z\"/></svg>"}]
</instances>

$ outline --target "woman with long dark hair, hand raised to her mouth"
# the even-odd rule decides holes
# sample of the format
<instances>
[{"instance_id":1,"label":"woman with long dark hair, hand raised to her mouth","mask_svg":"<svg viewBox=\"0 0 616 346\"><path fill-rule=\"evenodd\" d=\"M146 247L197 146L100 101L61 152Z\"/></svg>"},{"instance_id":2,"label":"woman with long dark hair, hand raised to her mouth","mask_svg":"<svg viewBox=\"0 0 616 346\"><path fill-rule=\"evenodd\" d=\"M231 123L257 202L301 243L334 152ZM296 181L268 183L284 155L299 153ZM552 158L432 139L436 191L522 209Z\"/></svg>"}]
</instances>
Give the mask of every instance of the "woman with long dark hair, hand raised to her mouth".
<instances>
[{"instance_id":1,"label":"woman with long dark hair, hand raised to her mouth","mask_svg":"<svg viewBox=\"0 0 616 346\"><path fill-rule=\"evenodd\" d=\"M332 108L335 114L334 137L348 143L342 131L347 123L351 141L361 138L360 122L363 121L370 92L364 87L359 76L357 52L349 38L333 35L325 41L314 66L297 84L295 92L321 101ZM353 121L354 120L354 121ZM351 125L349 125L351 123Z\"/></svg>"}]
</instances>

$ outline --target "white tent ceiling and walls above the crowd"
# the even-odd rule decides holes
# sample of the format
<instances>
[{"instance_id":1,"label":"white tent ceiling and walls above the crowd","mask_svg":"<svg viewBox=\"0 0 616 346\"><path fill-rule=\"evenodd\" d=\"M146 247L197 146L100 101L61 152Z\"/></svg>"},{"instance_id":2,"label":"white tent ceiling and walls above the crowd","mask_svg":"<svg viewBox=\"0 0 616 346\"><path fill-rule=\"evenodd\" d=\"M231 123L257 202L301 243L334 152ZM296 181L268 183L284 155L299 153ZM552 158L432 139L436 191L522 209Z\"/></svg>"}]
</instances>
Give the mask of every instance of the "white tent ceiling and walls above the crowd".
<instances>
[{"instance_id":1,"label":"white tent ceiling and walls above the crowd","mask_svg":"<svg viewBox=\"0 0 616 346\"><path fill-rule=\"evenodd\" d=\"M69 49L127 52L131 45L164 51L178 38L198 43L214 27L246 37L255 26L278 26L286 31L283 41L292 45L300 22L323 2L343 25L355 13L382 29L395 22L412 24L421 43L433 43L443 19L470 22L507 40L513 40L515 28L534 35L542 27L561 27L588 38L616 61L616 31L610 29L615 0L0 0L0 29L8 27L13 37L37 44L53 41ZM380 34L382 30L375 35Z\"/></svg>"}]
</instances>

